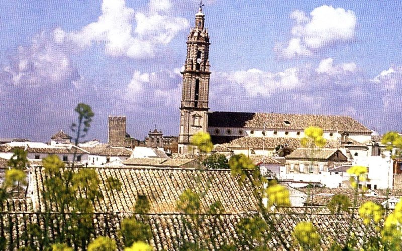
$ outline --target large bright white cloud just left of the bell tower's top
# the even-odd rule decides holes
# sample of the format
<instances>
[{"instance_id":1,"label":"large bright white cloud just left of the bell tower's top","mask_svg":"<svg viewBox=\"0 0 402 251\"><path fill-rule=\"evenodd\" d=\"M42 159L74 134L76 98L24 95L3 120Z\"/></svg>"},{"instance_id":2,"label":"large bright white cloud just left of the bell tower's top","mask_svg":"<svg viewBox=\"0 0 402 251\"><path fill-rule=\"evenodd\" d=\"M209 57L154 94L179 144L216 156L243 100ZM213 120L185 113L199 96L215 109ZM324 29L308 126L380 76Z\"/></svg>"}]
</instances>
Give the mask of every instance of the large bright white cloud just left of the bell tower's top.
<instances>
[{"instance_id":1,"label":"large bright white cloud just left of the bell tower's top","mask_svg":"<svg viewBox=\"0 0 402 251\"><path fill-rule=\"evenodd\" d=\"M189 26L185 18L167 14L171 5L169 0L151 0L149 12L142 13L127 7L124 0L103 0L102 15L96 22L79 31L56 28L53 38L56 43L72 43L79 49L103 44L109 56L152 57L158 46L168 44Z\"/></svg>"}]
</instances>

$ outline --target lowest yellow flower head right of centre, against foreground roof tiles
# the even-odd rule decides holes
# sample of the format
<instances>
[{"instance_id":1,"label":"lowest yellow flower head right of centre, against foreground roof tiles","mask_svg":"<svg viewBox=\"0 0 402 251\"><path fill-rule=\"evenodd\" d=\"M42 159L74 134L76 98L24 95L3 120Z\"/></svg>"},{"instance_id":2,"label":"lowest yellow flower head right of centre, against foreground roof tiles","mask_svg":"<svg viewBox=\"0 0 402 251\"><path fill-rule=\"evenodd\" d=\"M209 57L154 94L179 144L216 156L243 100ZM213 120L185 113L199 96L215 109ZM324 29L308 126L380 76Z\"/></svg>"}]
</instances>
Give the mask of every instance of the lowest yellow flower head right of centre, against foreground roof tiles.
<instances>
[{"instance_id":1,"label":"lowest yellow flower head right of centre, against foreground roof tiles","mask_svg":"<svg viewBox=\"0 0 402 251\"><path fill-rule=\"evenodd\" d=\"M300 221L292 233L293 237L302 247L314 248L320 242L320 235L310 221Z\"/></svg>"}]
</instances>

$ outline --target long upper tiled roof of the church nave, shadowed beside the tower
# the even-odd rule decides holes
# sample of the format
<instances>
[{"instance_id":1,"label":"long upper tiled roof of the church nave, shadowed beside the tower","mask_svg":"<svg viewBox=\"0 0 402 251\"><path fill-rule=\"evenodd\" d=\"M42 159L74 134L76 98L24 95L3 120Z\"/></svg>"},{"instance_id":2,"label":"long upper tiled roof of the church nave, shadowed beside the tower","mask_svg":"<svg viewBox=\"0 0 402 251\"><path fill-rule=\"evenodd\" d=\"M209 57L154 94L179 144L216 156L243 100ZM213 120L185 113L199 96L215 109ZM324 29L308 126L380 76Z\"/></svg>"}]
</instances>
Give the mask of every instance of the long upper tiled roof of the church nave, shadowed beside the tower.
<instances>
[{"instance_id":1,"label":"long upper tiled roof of the church nave, shadowed beside the tower","mask_svg":"<svg viewBox=\"0 0 402 251\"><path fill-rule=\"evenodd\" d=\"M371 133L370 129L348 116L222 111L208 114L209 127L263 128L264 124L268 129L303 130L316 126L328 131Z\"/></svg>"}]
</instances>

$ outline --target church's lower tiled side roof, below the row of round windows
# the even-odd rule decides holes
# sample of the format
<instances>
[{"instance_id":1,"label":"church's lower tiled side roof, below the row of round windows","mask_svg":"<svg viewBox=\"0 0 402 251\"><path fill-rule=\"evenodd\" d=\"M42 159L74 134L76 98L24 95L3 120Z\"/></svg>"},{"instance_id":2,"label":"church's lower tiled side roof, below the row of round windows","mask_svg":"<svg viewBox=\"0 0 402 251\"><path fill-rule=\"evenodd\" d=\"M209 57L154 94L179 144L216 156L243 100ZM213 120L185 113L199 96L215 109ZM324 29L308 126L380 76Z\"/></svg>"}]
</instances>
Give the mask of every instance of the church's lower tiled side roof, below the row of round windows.
<instances>
[{"instance_id":1,"label":"church's lower tiled side roof, below the row of round windows","mask_svg":"<svg viewBox=\"0 0 402 251\"><path fill-rule=\"evenodd\" d=\"M230 141L229 143L223 144L223 146L228 148L255 148L262 149L265 148L273 149L278 145L287 144L288 147L296 149L303 147L300 144L300 138L292 138L292 137L251 137L245 136L241 138L237 138L235 140ZM341 146L341 142L338 140L327 140L326 148L337 148Z\"/></svg>"}]
</instances>

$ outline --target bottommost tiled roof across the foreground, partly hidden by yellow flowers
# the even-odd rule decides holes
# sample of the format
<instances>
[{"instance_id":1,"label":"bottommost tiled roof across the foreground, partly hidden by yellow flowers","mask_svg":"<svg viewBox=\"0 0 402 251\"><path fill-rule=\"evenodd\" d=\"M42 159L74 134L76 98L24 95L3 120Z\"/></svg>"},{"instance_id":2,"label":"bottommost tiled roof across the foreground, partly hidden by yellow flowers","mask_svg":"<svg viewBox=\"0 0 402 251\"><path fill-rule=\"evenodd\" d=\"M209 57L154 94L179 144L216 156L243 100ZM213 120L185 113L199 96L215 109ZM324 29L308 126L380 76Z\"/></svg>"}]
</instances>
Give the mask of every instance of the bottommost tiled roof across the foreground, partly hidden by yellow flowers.
<instances>
[{"instance_id":1,"label":"bottommost tiled roof across the foreground, partly hidden by yellow flowers","mask_svg":"<svg viewBox=\"0 0 402 251\"><path fill-rule=\"evenodd\" d=\"M25 236L27 225L39 224L43 229L45 214L43 213L21 213L6 212L0 214L0 223L4 226L6 239L12 247L19 248L24 245L35 244L38 247L39 241L34 236ZM118 237L120 230L120 221L123 218L131 217L129 213L96 213L93 216L93 226L95 228L93 238L97 236L108 236L116 240L119 249L123 249L122 238ZM236 233L238 222L245 217L253 216L248 214L220 214L220 215L201 215L200 225L195 227L195 222L189 215L183 214L147 214L134 215L136 220L148 224L152 229L152 237L148 239L155 250L179 250L184 241L193 243L202 242L209 250L216 250L223 244L236 243L240 236ZM267 216L267 215L266 215ZM60 217L57 214L49 215L52 220L54 217ZM304 216L299 213L271 214L268 215L274 223L275 231L272 233L272 239L268 241L268 247L271 250L284 250L284 246L295 248L291 232L294 226L304 220L311 220L317 227L321 235L320 246L323 250L328 250L332 243L345 243L348 230L350 215L313 213ZM356 216L360 221L359 217ZM184 223L184 221L188 222ZM57 222L55 220L54 222ZM50 240L57 236L57 225L50 224ZM373 232L373 229L364 229L366 226L362 222L355 224L352 231L355 233L358 242L363 241L367 232ZM366 231L366 233L364 232ZM270 231L264 235L268 236ZM239 249L251 249L253 246L238 246ZM357 246L357 248L360 246ZM13 249L13 248L10 248Z\"/></svg>"}]
</instances>

